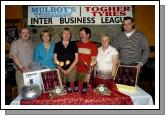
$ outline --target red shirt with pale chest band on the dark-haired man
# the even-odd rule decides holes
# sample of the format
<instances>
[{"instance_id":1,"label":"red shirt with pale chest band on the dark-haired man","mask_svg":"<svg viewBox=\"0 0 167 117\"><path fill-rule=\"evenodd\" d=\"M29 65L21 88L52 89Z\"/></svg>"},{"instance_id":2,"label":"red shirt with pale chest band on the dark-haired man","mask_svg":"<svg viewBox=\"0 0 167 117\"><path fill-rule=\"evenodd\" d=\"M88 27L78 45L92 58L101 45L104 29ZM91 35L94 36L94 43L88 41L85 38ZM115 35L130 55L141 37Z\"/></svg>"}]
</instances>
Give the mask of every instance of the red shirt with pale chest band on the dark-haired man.
<instances>
[{"instance_id":1,"label":"red shirt with pale chest band on the dark-haired man","mask_svg":"<svg viewBox=\"0 0 167 117\"><path fill-rule=\"evenodd\" d=\"M78 46L78 63L77 72L86 73L88 68L84 64L86 62L90 64L92 57L97 56L97 46L93 42L89 41L87 43L79 42Z\"/></svg>"}]
</instances>

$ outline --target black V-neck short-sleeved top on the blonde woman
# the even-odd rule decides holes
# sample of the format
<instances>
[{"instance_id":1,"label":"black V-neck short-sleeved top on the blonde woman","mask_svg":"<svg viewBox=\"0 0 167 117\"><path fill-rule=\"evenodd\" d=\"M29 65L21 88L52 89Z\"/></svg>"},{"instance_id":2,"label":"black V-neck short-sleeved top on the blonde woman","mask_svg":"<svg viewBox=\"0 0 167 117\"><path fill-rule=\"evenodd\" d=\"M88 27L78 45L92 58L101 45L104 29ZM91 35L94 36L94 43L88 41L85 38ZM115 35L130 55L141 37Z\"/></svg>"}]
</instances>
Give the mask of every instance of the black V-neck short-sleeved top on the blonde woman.
<instances>
[{"instance_id":1,"label":"black V-neck short-sleeved top on the blonde woman","mask_svg":"<svg viewBox=\"0 0 167 117\"><path fill-rule=\"evenodd\" d=\"M57 59L62 62L66 62L67 60L70 60L69 65L64 65L62 68L64 70L68 69L70 65L75 60L75 53L78 53L78 48L76 46L76 43L73 41L70 41L68 46L65 48L62 41L55 44L54 53L57 54Z\"/></svg>"}]
</instances>

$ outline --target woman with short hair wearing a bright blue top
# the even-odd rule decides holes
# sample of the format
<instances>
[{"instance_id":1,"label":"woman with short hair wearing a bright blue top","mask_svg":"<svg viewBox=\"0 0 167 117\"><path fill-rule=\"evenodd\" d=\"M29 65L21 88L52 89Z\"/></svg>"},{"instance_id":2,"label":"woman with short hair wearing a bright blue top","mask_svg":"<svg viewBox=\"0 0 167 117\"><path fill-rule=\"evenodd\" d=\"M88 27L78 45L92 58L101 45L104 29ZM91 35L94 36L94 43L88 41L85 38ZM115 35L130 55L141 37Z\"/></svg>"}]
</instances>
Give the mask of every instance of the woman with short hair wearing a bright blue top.
<instances>
[{"instance_id":1,"label":"woman with short hair wearing a bright blue top","mask_svg":"<svg viewBox=\"0 0 167 117\"><path fill-rule=\"evenodd\" d=\"M34 50L34 62L39 63L42 67L54 69L54 46L51 42L51 34L48 30L43 30L40 34L42 40Z\"/></svg>"}]
</instances>

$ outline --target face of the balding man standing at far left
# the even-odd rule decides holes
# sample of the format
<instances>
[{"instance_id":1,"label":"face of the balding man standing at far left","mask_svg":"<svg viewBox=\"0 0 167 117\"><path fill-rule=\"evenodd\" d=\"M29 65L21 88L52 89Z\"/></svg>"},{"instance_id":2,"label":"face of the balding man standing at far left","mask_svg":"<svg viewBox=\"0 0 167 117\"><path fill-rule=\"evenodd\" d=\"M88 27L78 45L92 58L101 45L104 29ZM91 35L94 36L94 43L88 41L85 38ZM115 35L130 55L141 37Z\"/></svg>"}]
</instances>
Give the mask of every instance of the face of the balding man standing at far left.
<instances>
[{"instance_id":1,"label":"face of the balding man standing at far left","mask_svg":"<svg viewBox=\"0 0 167 117\"><path fill-rule=\"evenodd\" d=\"M29 40L30 38L30 32L27 28L23 28L20 32L20 38L24 41Z\"/></svg>"}]
</instances>

